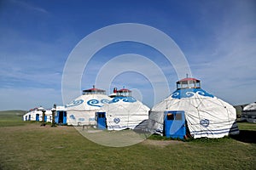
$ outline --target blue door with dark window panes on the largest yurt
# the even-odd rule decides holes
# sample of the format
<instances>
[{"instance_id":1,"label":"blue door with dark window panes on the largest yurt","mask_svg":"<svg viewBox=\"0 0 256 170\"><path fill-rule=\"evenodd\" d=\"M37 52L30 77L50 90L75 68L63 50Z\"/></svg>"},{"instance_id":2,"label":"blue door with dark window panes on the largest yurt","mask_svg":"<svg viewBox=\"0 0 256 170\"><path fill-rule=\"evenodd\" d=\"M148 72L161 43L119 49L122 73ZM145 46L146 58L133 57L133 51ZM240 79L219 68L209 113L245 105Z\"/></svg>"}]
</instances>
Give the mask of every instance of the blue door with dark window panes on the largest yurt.
<instances>
[{"instance_id":1,"label":"blue door with dark window panes on the largest yurt","mask_svg":"<svg viewBox=\"0 0 256 170\"><path fill-rule=\"evenodd\" d=\"M166 111L164 126L167 138L183 139L186 135L184 111Z\"/></svg>"}]
</instances>

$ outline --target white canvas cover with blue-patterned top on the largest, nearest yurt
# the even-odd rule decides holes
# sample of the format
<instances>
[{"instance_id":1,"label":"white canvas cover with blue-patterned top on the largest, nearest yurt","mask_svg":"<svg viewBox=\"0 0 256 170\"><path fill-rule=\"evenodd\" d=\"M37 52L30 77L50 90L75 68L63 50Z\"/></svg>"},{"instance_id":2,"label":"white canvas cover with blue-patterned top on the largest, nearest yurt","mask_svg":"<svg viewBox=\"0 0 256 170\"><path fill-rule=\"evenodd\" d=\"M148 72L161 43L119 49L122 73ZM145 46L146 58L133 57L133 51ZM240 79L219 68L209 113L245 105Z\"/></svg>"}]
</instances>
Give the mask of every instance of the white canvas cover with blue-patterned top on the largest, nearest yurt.
<instances>
[{"instance_id":1,"label":"white canvas cover with blue-patterned top on the largest, nearest yurt","mask_svg":"<svg viewBox=\"0 0 256 170\"><path fill-rule=\"evenodd\" d=\"M177 89L154 105L148 120L148 128L153 133L163 133L165 111L184 111L190 135L195 139L222 138L239 133L236 109L201 88Z\"/></svg>"}]
</instances>

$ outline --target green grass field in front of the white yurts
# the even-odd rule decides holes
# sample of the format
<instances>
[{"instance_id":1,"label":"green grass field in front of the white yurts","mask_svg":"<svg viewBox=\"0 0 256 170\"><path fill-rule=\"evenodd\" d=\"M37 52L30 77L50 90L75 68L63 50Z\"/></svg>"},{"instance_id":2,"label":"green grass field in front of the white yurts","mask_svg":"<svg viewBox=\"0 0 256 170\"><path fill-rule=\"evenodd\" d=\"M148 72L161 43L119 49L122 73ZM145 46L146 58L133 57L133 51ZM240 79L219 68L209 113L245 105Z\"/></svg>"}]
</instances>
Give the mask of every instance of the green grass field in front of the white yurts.
<instances>
[{"instance_id":1,"label":"green grass field in front of the white yurts","mask_svg":"<svg viewBox=\"0 0 256 170\"><path fill-rule=\"evenodd\" d=\"M74 127L22 122L22 111L0 112L0 169L255 169L256 125L224 139L147 139L114 148L85 139Z\"/></svg>"}]
</instances>

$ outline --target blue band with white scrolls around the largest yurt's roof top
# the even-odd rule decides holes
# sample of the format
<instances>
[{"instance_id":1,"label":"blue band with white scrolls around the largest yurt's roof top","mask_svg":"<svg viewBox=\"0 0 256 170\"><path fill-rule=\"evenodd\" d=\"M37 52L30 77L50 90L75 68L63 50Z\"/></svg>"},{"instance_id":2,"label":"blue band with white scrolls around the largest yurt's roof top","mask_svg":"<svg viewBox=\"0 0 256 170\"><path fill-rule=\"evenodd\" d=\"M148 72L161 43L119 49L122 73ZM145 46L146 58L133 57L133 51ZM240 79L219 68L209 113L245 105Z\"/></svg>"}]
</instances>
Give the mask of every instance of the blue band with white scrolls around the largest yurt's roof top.
<instances>
[{"instance_id":1,"label":"blue band with white scrolls around the largest yurt's roof top","mask_svg":"<svg viewBox=\"0 0 256 170\"><path fill-rule=\"evenodd\" d=\"M201 96L206 96L210 98L214 97L212 94L208 94L205 90L201 88L177 89L175 92L172 93L171 97L174 99L182 99L193 97L195 94L199 94Z\"/></svg>"}]
</instances>

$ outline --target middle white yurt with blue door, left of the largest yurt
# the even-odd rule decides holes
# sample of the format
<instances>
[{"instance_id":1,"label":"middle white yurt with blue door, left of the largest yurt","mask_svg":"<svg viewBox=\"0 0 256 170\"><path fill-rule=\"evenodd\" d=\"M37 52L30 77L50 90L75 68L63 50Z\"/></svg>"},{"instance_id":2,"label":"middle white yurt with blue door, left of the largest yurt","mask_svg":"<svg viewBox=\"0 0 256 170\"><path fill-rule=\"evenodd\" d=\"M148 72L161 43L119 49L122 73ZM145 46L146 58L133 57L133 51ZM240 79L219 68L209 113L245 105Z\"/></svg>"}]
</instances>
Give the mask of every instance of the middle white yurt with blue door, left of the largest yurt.
<instances>
[{"instance_id":1,"label":"middle white yurt with blue door, left of the largest yurt","mask_svg":"<svg viewBox=\"0 0 256 170\"><path fill-rule=\"evenodd\" d=\"M97 112L97 128L108 130L134 129L148 120L149 108L131 96L131 90L114 88L112 99Z\"/></svg>"}]
</instances>

